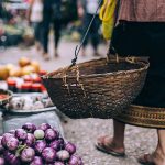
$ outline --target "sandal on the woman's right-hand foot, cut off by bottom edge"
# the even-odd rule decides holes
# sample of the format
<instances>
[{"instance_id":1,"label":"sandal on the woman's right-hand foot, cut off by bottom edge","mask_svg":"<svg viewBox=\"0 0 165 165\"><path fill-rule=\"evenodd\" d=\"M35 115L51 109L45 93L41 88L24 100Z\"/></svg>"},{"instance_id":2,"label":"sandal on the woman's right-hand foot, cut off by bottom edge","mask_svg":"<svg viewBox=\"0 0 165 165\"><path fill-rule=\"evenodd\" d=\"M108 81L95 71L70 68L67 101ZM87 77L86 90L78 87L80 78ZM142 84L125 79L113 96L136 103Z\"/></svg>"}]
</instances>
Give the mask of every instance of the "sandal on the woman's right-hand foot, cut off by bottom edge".
<instances>
[{"instance_id":1,"label":"sandal on the woman's right-hand foot, cut off by bottom edge","mask_svg":"<svg viewBox=\"0 0 165 165\"><path fill-rule=\"evenodd\" d=\"M138 158L138 162L143 165L155 165L155 163L152 161L152 154L144 154Z\"/></svg>"}]
</instances>

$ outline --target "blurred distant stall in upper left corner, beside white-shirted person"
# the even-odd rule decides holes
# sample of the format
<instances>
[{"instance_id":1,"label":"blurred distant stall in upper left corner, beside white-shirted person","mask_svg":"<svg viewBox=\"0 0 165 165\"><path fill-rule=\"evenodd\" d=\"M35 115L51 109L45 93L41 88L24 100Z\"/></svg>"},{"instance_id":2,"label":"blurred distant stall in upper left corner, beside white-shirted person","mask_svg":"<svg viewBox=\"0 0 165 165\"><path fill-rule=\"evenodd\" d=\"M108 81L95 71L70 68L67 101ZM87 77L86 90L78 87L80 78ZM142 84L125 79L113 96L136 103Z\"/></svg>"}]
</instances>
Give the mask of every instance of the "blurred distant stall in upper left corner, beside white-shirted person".
<instances>
[{"instance_id":1,"label":"blurred distant stall in upper left corner, beside white-shirted person","mask_svg":"<svg viewBox=\"0 0 165 165\"><path fill-rule=\"evenodd\" d=\"M0 46L13 46L21 42L33 44L33 30L26 22L28 1L8 0L2 3L0 16Z\"/></svg>"}]
</instances>

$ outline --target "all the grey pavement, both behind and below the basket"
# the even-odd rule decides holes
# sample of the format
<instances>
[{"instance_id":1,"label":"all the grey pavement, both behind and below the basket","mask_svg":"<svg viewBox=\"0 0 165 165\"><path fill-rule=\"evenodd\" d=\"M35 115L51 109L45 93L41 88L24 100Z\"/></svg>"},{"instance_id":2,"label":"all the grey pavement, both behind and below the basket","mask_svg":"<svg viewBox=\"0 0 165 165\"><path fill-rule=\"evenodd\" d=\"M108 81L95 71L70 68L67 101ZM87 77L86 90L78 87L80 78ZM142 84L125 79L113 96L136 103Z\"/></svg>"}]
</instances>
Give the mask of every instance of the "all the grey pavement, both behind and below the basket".
<instances>
[{"instance_id":1,"label":"all the grey pavement, both behind and below the basket","mask_svg":"<svg viewBox=\"0 0 165 165\"><path fill-rule=\"evenodd\" d=\"M50 62L43 61L34 47L24 50L11 47L0 52L0 63L16 63L21 56L28 56L40 61L42 68L51 72L70 64L76 44L62 41L59 45L61 57L57 59L52 58ZM99 51L105 56L107 46L101 45ZM51 54L53 56L53 52ZM91 54L91 47L89 46L87 56L80 56L79 62L94 58ZM82 156L85 165L139 165L136 157L145 152L152 152L156 146L155 130L128 125L125 132L127 157L117 158L95 148L95 140L98 135L112 134L112 120L67 120L67 123L63 123L66 138L77 144L78 153Z\"/></svg>"}]
</instances>

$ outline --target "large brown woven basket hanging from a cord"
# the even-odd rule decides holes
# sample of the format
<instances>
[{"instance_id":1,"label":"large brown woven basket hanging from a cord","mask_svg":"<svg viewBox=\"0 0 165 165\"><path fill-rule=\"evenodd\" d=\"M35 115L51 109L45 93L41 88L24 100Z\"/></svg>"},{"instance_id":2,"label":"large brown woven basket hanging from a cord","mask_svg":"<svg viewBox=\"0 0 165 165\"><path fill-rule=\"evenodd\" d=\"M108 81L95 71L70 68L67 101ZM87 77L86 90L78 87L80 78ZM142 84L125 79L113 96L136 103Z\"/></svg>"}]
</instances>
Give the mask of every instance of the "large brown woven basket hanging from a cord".
<instances>
[{"instance_id":1,"label":"large brown woven basket hanging from a cord","mask_svg":"<svg viewBox=\"0 0 165 165\"><path fill-rule=\"evenodd\" d=\"M132 59L132 58L131 58ZM54 105L73 119L114 118L141 91L148 63L141 58L95 59L43 76Z\"/></svg>"}]
</instances>

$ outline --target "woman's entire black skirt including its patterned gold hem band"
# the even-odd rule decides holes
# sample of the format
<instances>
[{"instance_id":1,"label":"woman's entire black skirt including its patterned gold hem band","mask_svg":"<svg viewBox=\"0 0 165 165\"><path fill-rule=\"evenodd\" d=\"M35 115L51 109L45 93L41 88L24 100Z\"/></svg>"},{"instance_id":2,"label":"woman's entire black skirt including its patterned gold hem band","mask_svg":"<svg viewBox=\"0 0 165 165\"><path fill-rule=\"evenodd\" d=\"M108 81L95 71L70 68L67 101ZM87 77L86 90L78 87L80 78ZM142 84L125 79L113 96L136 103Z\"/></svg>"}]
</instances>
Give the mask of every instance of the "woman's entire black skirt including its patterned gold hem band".
<instances>
[{"instance_id":1,"label":"woman's entire black skirt including its patterned gold hem band","mask_svg":"<svg viewBox=\"0 0 165 165\"><path fill-rule=\"evenodd\" d=\"M150 61L141 94L117 120L165 128L165 23L121 22L114 29L111 45L121 56L146 56Z\"/></svg>"}]
</instances>

